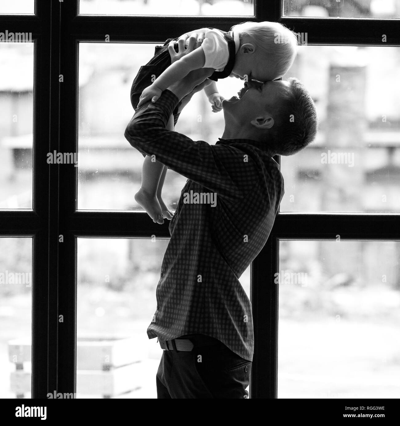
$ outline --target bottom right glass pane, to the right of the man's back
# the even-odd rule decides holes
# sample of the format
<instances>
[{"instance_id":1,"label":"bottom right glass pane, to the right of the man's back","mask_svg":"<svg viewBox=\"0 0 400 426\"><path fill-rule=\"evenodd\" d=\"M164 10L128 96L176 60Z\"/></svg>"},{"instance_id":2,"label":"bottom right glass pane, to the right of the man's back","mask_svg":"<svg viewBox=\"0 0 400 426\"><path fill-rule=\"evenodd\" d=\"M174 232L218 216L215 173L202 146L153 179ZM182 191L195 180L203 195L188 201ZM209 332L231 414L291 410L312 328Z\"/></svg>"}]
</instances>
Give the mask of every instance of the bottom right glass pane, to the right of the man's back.
<instances>
[{"instance_id":1,"label":"bottom right glass pane, to the right of the man's back","mask_svg":"<svg viewBox=\"0 0 400 426\"><path fill-rule=\"evenodd\" d=\"M399 398L400 242L280 241L279 398Z\"/></svg>"}]
</instances>

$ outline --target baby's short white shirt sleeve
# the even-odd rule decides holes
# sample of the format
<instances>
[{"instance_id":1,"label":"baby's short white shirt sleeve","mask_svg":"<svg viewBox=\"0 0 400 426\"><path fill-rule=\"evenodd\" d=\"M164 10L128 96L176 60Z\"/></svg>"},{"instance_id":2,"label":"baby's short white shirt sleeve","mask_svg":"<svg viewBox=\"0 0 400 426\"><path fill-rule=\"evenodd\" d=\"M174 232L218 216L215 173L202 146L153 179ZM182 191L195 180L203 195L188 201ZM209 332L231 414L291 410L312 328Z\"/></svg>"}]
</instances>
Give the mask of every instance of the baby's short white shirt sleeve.
<instances>
[{"instance_id":1,"label":"baby's short white shirt sleeve","mask_svg":"<svg viewBox=\"0 0 400 426\"><path fill-rule=\"evenodd\" d=\"M215 29L209 30L204 36L201 47L206 56L203 68L214 68L217 71L222 71L229 60L228 42L223 34Z\"/></svg>"}]
</instances>

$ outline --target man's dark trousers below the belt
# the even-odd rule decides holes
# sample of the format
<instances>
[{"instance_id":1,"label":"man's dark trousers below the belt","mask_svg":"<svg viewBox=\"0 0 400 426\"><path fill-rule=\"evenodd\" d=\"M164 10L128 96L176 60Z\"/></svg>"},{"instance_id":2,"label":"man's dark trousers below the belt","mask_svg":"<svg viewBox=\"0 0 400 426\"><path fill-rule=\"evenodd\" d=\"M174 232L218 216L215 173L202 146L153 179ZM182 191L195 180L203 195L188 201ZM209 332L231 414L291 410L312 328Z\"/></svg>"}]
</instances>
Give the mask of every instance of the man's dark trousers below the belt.
<instances>
[{"instance_id":1,"label":"man's dark trousers below the belt","mask_svg":"<svg viewBox=\"0 0 400 426\"><path fill-rule=\"evenodd\" d=\"M157 398L248 398L251 361L223 343L191 351L163 351Z\"/></svg>"}]
</instances>

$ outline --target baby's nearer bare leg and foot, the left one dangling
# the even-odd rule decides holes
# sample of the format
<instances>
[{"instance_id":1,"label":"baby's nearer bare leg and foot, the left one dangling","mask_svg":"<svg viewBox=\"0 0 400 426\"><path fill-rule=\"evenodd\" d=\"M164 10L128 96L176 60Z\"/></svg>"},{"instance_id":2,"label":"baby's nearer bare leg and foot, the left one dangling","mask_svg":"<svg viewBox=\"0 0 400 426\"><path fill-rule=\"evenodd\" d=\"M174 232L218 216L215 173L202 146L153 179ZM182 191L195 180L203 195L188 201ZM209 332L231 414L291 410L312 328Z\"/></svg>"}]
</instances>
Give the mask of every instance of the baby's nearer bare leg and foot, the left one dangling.
<instances>
[{"instance_id":1,"label":"baby's nearer bare leg and foot, the left one dangling","mask_svg":"<svg viewBox=\"0 0 400 426\"><path fill-rule=\"evenodd\" d=\"M163 172L164 164L158 161L151 161L151 157L146 155L142 168L142 185L135 194L135 200L149 214L154 223L164 223L163 212L157 199L157 187L160 176Z\"/></svg>"}]
</instances>

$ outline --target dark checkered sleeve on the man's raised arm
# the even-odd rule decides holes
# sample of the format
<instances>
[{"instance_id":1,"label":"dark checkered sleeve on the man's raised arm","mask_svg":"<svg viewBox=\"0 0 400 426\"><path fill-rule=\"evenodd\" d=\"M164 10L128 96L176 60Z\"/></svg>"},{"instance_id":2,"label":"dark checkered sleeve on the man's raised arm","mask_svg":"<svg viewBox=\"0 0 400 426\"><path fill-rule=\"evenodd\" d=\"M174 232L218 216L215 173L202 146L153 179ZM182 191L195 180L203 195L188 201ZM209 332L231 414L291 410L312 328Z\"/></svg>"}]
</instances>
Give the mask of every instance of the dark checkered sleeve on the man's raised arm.
<instances>
[{"instance_id":1,"label":"dark checkered sleeve on the man's raised arm","mask_svg":"<svg viewBox=\"0 0 400 426\"><path fill-rule=\"evenodd\" d=\"M126 139L141 153L155 155L160 163L226 201L237 202L247 196L259 174L251 159L244 161L241 150L226 144L192 141L166 130L177 101L172 92L165 90L157 102L138 108L126 128Z\"/></svg>"}]
</instances>

